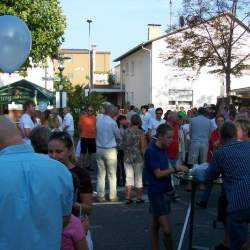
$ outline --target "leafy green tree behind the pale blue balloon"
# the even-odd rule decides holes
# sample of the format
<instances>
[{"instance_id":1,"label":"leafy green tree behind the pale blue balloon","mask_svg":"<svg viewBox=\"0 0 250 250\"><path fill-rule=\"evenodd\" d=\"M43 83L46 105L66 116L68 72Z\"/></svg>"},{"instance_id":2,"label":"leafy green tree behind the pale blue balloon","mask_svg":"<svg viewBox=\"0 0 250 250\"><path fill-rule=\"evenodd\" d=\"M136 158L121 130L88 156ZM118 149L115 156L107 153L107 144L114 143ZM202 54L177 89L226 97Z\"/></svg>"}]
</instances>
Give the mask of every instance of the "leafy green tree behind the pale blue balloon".
<instances>
[{"instance_id":1,"label":"leafy green tree behind the pale blue balloon","mask_svg":"<svg viewBox=\"0 0 250 250\"><path fill-rule=\"evenodd\" d=\"M24 71L31 66L31 58L36 66L57 54L66 28L58 0L1 0L0 15L6 14L20 17L32 34L32 49Z\"/></svg>"}]
</instances>

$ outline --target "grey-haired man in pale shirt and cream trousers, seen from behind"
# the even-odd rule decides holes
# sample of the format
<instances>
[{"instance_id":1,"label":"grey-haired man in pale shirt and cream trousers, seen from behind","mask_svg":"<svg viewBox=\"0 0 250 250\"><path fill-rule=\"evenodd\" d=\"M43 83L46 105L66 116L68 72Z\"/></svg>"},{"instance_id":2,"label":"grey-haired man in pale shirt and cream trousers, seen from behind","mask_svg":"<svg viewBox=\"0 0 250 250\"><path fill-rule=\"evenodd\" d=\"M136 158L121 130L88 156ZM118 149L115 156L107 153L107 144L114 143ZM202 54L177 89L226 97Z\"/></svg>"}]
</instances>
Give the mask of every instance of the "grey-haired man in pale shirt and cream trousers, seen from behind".
<instances>
[{"instance_id":1,"label":"grey-haired man in pale shirt and cream trousers, seen from behind","mask_svg":"<svg viewBox=\"0 0 250 250\"><path fill-rule=\"evenodd\" d=\"M115 117L117 108L110 104L104 107L104 113L96 117L96 160L97 174L97 199L105 201L105 177L106 171L109 181L109 200L117 201L116 169L117 169L117 143L121 139Z\"/></svg>"}]
</instances>

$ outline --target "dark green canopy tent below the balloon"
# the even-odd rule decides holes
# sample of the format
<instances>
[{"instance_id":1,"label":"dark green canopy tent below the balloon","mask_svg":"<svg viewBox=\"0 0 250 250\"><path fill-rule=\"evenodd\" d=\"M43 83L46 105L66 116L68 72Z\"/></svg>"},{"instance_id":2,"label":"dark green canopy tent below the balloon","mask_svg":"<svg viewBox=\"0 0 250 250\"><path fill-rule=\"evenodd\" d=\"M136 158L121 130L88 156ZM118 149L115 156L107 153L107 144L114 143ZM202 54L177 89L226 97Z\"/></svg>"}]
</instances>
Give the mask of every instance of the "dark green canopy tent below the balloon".
<instances>
[{"instance_id":1,"label":"dark green canopy tent below the balloon","mask_svg":"<svg viewBox=\"0 0 250 250\"><path fill-rule=\"evenodd\" d=\"M27 80L21 80L0 88L0 104L23 104L27 100L34 100L36 104L54 102L53 92L42 88Z\"/></svg>"}]
</instances>

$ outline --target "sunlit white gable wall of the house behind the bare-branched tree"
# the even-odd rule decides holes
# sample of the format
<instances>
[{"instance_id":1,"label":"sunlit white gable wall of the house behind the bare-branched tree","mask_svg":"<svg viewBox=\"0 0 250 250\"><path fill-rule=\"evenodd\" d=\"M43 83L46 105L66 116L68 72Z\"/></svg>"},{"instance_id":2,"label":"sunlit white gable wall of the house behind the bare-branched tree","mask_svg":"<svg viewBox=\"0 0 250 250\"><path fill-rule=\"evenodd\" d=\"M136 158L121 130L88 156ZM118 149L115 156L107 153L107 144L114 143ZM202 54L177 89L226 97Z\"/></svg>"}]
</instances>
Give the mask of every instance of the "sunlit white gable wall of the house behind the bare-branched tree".
<instances>
[{"instance_id":1,"label":"sunlit white gable wall of the house behind the bare-branched tree","mask_svg":"<svg viewBox=\"0 0 250 250\"><path fill-rule=\"evenodd\" d=\"M174 65L174 61L164 61L163 54L168 51L165 39L154 41L152 45L152 102L155 106L161 106L164 110L173 109L176 105L169 105L171 100L179 101L176 102L179 106L185 106L180 101L182 97L178 100L178 96L170 96L171 89L192 90L193 106L201 106L204 103L215 104L217 97L225 94L222 91L224 76L209 73L211 68L203 67L197 74L197 71L192 69L178 68ZM241 53L249 53L248 48L249 46L246 46ZM242 87L250 87L249 71L244 71L241 77L232 76L231 89Z\"/></svg>"}]
</instances>

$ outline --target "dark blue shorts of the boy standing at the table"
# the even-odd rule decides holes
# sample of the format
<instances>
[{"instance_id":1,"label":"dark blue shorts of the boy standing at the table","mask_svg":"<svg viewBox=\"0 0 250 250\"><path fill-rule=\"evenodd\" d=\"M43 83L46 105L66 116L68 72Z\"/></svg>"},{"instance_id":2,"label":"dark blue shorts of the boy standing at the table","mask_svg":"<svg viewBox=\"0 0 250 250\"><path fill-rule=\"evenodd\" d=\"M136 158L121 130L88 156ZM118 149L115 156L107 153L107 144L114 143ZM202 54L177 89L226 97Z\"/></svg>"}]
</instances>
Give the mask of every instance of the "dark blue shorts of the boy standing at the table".
<instances>
[{"instance_id":1,"label":"dark blue shorts of the boy standing at the table","mask_svg":"<svg viewBox=\"0 0 250 250\"><path fill-rule=\"evenodd\" d=\"M171 201L173 199L171 194L148 194L149 198L149 212L154 217L168 215L171 212Z\"/></svg>"}]
</instances>

